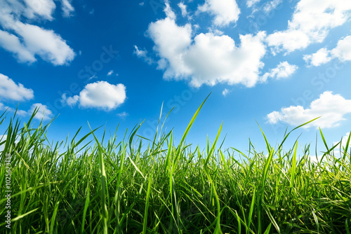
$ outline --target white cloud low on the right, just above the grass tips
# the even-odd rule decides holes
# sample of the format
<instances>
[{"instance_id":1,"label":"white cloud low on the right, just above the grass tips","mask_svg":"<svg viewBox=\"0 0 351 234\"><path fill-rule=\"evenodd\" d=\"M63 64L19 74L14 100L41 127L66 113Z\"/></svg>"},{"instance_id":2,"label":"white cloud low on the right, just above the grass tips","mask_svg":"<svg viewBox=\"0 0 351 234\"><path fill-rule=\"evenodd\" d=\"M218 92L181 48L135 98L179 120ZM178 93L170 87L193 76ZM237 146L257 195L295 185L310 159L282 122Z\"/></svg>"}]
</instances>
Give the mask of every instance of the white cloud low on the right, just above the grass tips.
<instances>
[{"instance_id":1,"label":"white cloud low on the right, just above the grass tips","mask_svg":"<svg viewBox=\"0 0 351 234\"><path fill-rule=\"evenodd\" d=\"M345 99L341 95L333 95L326 91L310 104L310 108L303 106L290 106L282 108L281 111L273 111L267 115L269 123L284 122L289 125L301 125L314 118L316 121L305 125L304 128L312 126L319 128L334 128L345 121L344 116L351 113L351 99Z\"/></svg>"}]
</instances>

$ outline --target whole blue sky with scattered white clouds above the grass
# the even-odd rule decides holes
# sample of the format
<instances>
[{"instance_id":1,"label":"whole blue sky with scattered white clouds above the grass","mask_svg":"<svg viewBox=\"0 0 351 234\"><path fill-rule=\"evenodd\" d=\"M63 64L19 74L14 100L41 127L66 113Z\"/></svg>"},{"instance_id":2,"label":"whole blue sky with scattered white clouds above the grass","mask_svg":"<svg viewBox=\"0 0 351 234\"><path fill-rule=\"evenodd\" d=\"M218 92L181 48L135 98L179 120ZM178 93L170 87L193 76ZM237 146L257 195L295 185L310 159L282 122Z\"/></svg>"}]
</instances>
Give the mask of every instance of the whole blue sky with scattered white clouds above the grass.
<instances>
[{"instance_id":1,"label":"whole blue sky with scattered white clouds above the grass","mask_svg":"<svg viewBox=\"0 0 351 234\"><path fill-rule=\"evenodd\" d=\"M351 1L0 0L0 111L57 117L53 141L88 123L123 139L143 121L151 139L161 109L179 141L209 95L195 146L223 123L225 148L263 151L260 128L274 146L317 117L287 148L314 146L319 128L333 145L351 130L350 74Z\"/></svg>"}]
</instances>

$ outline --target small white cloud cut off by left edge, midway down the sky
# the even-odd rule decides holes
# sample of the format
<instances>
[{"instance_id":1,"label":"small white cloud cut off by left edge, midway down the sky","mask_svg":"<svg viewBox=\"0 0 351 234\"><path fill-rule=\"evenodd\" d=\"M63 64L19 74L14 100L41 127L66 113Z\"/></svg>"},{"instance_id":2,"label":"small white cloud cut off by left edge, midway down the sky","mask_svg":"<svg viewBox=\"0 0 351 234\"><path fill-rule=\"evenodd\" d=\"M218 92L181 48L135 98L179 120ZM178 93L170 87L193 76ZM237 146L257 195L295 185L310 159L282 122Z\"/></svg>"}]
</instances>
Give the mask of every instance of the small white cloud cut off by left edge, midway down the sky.
<instances>
[{"instance_id":1,"label":"small white cloud cut off by left edge, midway down the sky","mask_svg":"<svg viewBox=\"0 0 351 234\"><path fill-rule=\"evenodd\" d=\"M33 90L25 88L21 83L16 84L11 78L0 74L0 99L24 101L34 98Z\"/></svg>"}]
</instances>

